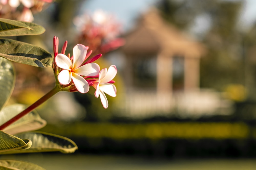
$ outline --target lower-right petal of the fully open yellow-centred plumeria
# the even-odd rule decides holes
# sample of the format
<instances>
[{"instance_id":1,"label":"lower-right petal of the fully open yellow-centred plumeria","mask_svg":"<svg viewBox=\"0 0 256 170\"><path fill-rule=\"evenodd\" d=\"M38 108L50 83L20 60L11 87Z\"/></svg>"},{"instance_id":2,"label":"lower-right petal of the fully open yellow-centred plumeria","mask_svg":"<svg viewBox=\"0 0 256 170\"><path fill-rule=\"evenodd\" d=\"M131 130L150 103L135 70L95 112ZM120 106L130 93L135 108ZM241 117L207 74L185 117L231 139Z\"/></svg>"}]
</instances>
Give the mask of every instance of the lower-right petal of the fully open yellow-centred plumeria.
<instances>
[{"instance_id":1,"label":"lower-right petal of the fully open yellow-centred plumeria","mask_svg":"<svg viewBox=\"0 0 256 170\"><path fill-rule=\"evenodd\" d=\"M89 84L82 76L72 73L72 80L80 93L87 93L89 91Z\"/></svg>"}]
</instances>

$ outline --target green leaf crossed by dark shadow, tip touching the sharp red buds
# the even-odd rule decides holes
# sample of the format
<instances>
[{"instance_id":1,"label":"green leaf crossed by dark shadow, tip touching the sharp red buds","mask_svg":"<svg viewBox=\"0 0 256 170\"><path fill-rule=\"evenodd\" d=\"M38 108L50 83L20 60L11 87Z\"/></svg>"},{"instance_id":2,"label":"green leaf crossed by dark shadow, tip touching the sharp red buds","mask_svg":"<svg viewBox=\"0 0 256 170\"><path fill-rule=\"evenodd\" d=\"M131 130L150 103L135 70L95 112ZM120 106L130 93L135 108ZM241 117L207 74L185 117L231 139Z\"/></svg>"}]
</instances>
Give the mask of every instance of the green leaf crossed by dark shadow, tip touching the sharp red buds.
<instances>
[{"instance_id":1,"label":"green leaf crossed by dark shadow, tip touching the sharp red buds","mask_svg":"<svg viewBox=\"0 0 256 170\"><path fill-rule=\"evenodd\" d=\"M50 67L51 54L35 45L10 39L0 39L0 56L35 67Z\"/></svg>"}]
</instances>

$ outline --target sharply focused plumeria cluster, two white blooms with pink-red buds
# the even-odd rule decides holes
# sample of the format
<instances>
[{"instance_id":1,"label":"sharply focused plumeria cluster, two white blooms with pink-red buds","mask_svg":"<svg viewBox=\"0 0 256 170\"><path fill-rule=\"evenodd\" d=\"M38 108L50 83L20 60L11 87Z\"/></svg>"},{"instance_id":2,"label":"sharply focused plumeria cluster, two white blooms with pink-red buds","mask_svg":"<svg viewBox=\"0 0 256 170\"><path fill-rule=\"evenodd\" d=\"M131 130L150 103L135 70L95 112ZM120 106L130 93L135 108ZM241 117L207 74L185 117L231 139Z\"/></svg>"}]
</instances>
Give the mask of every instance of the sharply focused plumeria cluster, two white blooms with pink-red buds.
<instances>
[{"instance_id":1,"label":"sharply focused plumeria cluster, two white blooms with pink-red buds","mask_svg":"<svg viewBox=\"0 0 256 170\"><path fill-rule=\"evenodd\" d=\"M107 70L100 70L97 63L94 63L102 55L98 54L88 59L92 54L92 50L88 52L89 47L77 44L73 48L73 56L65 55L67 41L64 43L61 53L58 53L59 39L53 39L54 61L52 68L56 76L56 82L62 91L87 93L90 86L95 90L95 97L101 99L104 108L108 108L108 100L106 94L115 97L116 87L113 85L113 78L117 73L115 65Z\"/></svg>"}]
</instances>

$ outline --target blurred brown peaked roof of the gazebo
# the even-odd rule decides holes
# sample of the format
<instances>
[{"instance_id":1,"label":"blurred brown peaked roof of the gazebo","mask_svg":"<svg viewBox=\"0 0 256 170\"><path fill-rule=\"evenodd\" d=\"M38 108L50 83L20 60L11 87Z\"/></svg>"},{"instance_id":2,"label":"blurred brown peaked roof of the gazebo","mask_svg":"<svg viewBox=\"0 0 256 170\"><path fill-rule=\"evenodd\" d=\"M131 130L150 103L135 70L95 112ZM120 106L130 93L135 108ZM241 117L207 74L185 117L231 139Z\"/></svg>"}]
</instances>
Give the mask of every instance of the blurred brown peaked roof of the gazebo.
<instances>
[{"instance_id":1,"label":"blurred brown peaked roof of the gazebo","mask_svg":"<svg viewBox=\"0 0 256 170\"><path fill-rule=\"evenodd\" d=\"M136 28L125 37L126 54L157 54L201 57L206 49L188 35L165 22L156 8L142 15Z\"/></svg>"}]
</instances>

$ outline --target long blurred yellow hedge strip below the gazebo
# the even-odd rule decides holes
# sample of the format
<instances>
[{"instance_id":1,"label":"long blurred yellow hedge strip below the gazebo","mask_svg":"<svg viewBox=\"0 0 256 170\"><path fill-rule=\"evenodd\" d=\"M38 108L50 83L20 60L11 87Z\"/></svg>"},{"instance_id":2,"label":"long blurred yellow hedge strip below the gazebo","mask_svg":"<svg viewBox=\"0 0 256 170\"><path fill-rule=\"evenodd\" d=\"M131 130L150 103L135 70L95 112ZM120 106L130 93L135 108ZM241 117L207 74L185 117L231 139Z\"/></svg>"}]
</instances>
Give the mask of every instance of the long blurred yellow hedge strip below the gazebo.
<instances>
[{"instance_id":1,"label":"long blurred yellow hedge strip below the gazebo","mask_svg":"<svg viewBox=\"0 0 256 170\"><path fill-rule=\"evenodd\" d=\"M243 139L249 137L250 129L245 123L76 123L65 130L65 135L91 138L185 138L185 139Z\"/></svg>"}]
</instances>

